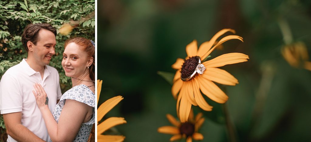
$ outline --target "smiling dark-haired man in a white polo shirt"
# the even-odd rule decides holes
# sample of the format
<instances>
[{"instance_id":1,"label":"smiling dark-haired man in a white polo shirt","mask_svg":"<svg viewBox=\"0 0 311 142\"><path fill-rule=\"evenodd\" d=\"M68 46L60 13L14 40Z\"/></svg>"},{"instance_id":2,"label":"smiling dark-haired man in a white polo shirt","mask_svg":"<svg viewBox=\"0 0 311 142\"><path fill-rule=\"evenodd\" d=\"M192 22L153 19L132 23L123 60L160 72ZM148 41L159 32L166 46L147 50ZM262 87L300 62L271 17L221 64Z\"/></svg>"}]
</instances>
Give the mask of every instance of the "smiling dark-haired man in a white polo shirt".
<instances>
[{"instance_id":1,"label":"smiling dark-haired man in a white polo shirt","mask_svg":"<svg viewBox=\"0 0 311 142\"><path fill-rule=\"evenodd\" d=\"M28 24L21 38L27 59L8 69L1 78L0 112L8 142L50 140L32 90L35 82L44 87L50 111L61 98L59 74L48 65L55 54L55 36L56 29L50 24Z\"/></svg>"}]
</instances>

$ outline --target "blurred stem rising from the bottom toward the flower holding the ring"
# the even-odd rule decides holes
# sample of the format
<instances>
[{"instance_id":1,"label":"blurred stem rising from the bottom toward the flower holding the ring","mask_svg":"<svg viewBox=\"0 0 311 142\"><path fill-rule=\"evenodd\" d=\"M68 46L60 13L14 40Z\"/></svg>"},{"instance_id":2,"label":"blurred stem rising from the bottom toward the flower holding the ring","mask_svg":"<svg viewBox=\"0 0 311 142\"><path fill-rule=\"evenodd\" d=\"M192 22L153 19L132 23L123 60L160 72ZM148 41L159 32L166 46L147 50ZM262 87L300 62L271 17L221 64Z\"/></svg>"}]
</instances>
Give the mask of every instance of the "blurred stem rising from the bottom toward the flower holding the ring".
<instances>
[{"instance_id":1,"label":"blurred stem rising from the bottom toward the flower holding the ring","mask_svg":"<svg viewBox=\"0 0 311 142\"><path fill-rule=\"evenodd\" d=\"M227 103L222 104L223 111L225 113L225 121L226 121L226 128L227 128L227 133L228 133L228 141L230 142L236 142L236 130L235 127L230 119Z\"/></svg>"}]
</instances>

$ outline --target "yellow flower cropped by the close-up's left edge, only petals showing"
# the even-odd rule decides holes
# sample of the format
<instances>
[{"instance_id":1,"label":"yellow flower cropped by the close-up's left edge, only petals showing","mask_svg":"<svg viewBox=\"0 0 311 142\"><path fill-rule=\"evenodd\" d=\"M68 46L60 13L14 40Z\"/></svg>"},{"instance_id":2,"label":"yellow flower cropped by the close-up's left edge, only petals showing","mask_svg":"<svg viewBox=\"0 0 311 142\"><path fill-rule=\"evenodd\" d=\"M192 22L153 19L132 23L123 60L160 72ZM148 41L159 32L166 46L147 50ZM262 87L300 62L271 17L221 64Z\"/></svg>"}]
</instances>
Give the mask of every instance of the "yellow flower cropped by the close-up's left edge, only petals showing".
<instances>
[{"instance_id":1,"label":"yellow flower cropped by the close-up's left edge, only petals showing","mask_svg":"<svg viewBox=\"0 0 311 142\"><path fill-rule=\"evenodd\" d=\"M102 80L97 80L97 103L100 96ZM117 105L121 100L122 96L116 96L109 100L106 100L97 109L97 141L98 142L122 142L125 139L123 135L101 135L104 131L110 129L113 126L124 124L126 121L124 118L111 117L106 119L104 122L98 124L98 122L108 113L115 105Z\"/></svg>"}]
</instances>

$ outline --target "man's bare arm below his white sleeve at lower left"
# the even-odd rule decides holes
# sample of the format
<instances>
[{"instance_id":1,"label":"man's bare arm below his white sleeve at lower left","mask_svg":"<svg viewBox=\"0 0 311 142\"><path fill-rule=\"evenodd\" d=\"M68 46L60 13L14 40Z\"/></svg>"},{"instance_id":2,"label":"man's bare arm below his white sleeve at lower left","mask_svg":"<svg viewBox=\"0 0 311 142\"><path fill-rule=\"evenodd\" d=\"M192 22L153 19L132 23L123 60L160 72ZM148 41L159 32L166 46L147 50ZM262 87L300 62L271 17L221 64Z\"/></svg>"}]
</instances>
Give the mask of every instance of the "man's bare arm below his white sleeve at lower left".
<instances>
[{"instance_id":1,"label":"man's bare arm below his white sleeve at lower left","mask_svg":"<svg viewBox=\"0 0 311 142\"><path fill-rule=\"evenodd\" d=\"M33 132L21 124L21 112L3 114L4 124L7 128L7 134L14 140L23 142L44 142Z\"/></svg>"}]
</instances>

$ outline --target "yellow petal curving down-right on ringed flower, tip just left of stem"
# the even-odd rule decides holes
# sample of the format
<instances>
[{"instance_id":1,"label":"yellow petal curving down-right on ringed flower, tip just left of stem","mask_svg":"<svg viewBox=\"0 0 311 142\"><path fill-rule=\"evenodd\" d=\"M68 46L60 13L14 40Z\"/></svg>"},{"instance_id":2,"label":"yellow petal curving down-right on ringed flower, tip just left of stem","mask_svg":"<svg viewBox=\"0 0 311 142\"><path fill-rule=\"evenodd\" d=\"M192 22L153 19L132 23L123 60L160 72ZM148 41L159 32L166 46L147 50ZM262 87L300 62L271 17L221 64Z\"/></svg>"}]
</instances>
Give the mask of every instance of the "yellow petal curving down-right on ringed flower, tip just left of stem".
<instances>
[{"instance_id":1,"label":"yellow petal curving down-right on ringed flower, tip just left of stem","mask_svg":"<svg viewBox=\"0 0 311 142\"><path fill-rule=\"evenodd\" d=\"M212 106L207 104L205 99L203 98L201 92L200 92L200 87L199 87L199 82L197 81L196 78L193 78L192 80L192 85L193 85L193 90L194 90L194 98L199 105L199 107L205 111L212 111Z\"/></svg>"}]
</instances>

